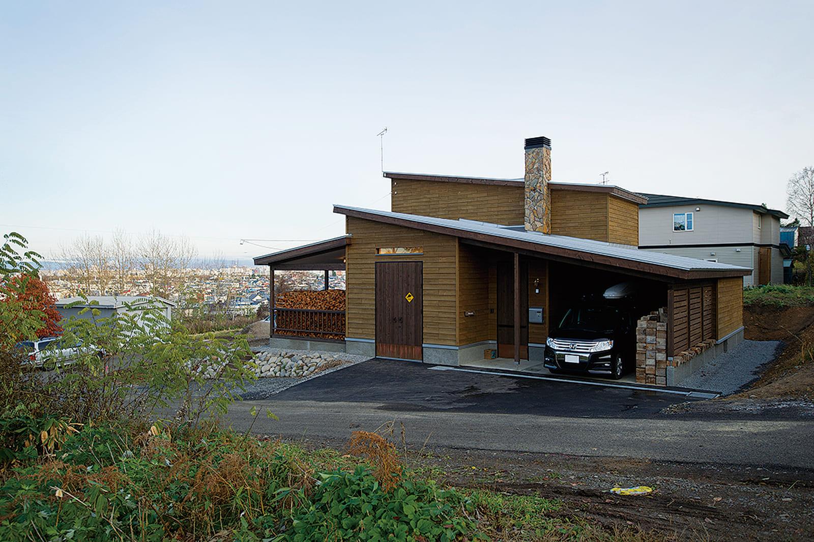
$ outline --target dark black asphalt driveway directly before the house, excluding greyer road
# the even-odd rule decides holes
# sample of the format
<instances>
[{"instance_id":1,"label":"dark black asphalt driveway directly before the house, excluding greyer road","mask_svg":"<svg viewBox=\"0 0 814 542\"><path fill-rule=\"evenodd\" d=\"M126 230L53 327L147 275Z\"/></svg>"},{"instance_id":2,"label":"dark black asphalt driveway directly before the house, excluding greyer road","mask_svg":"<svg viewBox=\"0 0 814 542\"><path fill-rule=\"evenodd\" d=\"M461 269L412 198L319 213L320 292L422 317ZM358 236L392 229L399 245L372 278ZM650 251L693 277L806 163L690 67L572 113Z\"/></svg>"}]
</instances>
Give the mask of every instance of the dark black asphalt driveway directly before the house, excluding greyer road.
<instances>
[{"instance_id":1,"label":"dark black asphalt driveway directly before the house, excluding greyer road","mask_svg":"<svg viewBox=\"0 0 814 542\"><path fill-rule=\"evenodd\" d=\"M440 370L410 361L373 359L313 378L273 396L262 384L245 400L376 403L397 412L444 411L556 417L650 417L691 400L666 391ZM615 385L616 382L608 381Z\"/></svg>"}]
</instances>

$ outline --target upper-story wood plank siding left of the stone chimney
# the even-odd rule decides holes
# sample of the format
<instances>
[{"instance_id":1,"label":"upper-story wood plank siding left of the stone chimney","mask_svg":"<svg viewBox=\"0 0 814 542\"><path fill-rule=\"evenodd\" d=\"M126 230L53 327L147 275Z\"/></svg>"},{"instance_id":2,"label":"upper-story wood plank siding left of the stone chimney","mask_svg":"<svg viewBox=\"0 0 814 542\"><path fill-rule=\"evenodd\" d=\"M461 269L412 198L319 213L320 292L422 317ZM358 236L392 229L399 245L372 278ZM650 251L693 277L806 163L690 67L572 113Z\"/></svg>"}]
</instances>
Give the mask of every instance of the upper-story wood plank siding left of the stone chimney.
<instances>
[{"instance_id":1,"label":"upper-story wood plank siding left of the stone chimney","mask_svg":"<svg viewBox=\"0 0 814 542\"><path fill-rule=\"evenodd\" d=\"M523 188L519 186L393 179L391 190L392 212L523 224Z\"/></svg>"}]
</instances>

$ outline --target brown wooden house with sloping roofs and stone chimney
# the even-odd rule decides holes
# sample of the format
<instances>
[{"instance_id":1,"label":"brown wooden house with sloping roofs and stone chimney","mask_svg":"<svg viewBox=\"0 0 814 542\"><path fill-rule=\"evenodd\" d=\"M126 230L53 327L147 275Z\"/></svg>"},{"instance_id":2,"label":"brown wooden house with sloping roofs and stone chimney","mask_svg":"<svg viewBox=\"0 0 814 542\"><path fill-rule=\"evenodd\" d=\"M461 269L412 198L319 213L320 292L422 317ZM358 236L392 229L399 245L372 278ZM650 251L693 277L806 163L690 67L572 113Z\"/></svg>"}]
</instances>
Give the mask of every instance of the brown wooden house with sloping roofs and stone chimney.
<instances>
[{"instance_id":1,"label":"brown wooden house with sloping roofs and stone chimney","mask_svg":"<svg viewBox=\"0 0 814 542\"><path fill-rule=\"evenodd\" d=\"M542 361L549 327L574 299L630 280L649 310L667 313L667 356L742 340L750 269L638 250L646 198L551 182L550 152L548 138L527 139L523 179L384 173L392 211L337 205L344 237L256 258L272 273L347 272L344 341L274 345L442 365L492 349Z\"/></svg>"}]
</instances>

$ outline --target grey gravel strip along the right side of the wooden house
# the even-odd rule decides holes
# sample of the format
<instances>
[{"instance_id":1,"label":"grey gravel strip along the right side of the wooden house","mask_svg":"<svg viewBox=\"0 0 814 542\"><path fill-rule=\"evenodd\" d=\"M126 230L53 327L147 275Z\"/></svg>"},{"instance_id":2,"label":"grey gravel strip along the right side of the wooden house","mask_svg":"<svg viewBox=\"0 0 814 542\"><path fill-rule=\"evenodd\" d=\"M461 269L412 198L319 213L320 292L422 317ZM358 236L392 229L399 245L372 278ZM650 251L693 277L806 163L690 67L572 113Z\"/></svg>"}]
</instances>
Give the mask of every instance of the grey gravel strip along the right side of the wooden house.
<instances>
[{"instance_id":1,"label":"grey gravel strip along the right side of the wooden house","mask_svg":"<svg viewBox=\"0 0 814 542\"><path fill-rule=\"evenodd\" d=\"M678 386L696 390L720 391L730 396L742 391L760 377L764 366L780 354L781 341L743 341L733 350L690 374Z\"/></svg>"}]
</instances>

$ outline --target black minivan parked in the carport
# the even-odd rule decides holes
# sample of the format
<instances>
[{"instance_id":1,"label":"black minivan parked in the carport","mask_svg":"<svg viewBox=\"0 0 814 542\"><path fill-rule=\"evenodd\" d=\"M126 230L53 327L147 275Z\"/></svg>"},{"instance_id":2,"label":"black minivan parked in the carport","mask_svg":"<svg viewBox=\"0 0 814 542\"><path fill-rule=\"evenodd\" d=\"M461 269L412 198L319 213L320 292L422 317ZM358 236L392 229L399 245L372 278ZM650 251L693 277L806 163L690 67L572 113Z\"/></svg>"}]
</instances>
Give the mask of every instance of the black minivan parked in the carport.
<instances>
[{"instance_id":1,"label":"black minivan parked in the carport","mask_svg":"<svg viewBox=\"0 0 814 542\"><path fill-rule=\"evenodd\" d=\"M575 304L545 339L545 367L622 376L636 366L635 308L628 283L611 286L602 300Z\"/></svg>"}]
</instances>

